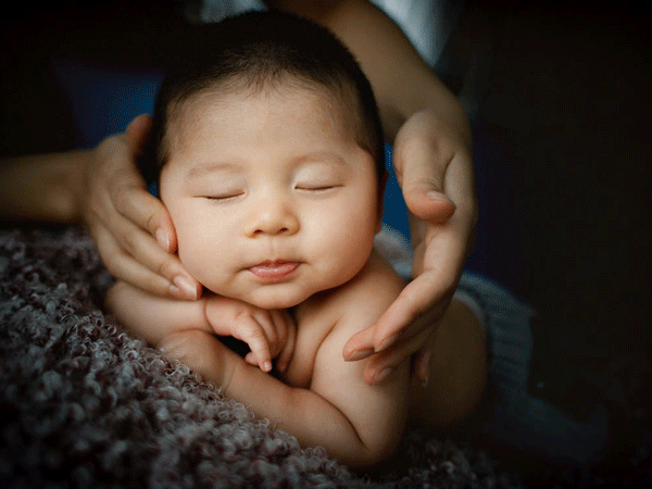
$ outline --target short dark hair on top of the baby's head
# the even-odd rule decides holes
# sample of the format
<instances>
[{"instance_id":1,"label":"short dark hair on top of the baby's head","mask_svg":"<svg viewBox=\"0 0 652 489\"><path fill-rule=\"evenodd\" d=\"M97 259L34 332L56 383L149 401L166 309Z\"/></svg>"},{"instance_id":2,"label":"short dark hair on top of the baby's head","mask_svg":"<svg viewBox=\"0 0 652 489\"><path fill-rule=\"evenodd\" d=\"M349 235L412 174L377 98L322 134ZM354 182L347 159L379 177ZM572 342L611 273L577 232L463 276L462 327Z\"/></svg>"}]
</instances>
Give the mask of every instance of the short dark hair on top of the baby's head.
<instances>
[{"instance_id":1,"label":"short dark hair on top of the baby's head","mask_svg":"<svg viewBox=\"0 0 652 489\"><path fill-rule=\"evenodd\" d=\"M189 27L159 89L150 140L139 160L148 184L168 159L166 128L175 109L209 90L259 92L284 83L335 96L356 143L376 162L378 186L385 151L372 86L349 50L326 28L276 11L249 12L218 24Z\"/></svg>"}]
</instances>

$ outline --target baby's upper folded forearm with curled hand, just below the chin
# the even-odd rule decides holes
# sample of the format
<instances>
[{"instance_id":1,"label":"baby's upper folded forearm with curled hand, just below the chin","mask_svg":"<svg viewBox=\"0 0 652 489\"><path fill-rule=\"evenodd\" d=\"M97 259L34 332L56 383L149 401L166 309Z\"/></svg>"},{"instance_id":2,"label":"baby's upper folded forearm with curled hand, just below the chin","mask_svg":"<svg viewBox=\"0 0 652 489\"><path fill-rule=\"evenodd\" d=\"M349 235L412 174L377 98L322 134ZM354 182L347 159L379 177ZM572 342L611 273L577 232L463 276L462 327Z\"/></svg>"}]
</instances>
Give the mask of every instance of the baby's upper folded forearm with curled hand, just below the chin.
<instances>
[{"instance_id":1,"label":"baby's upper folded forearm with curled hand, just below the chin","mask_svg":"<svg viewBox=\"0 0 652 489\"><path fill-rule=\"evenodd\" d=\"M278 356L283 372L294 347L294 323L285 310L265 311L221 296L192 302L168 299L124 281L110 289L105 302L123 326L156 348L171 335L187 330L233 336L249 344L249 363L268 372L272 359Z\"/></svg>"}]
</instances>

